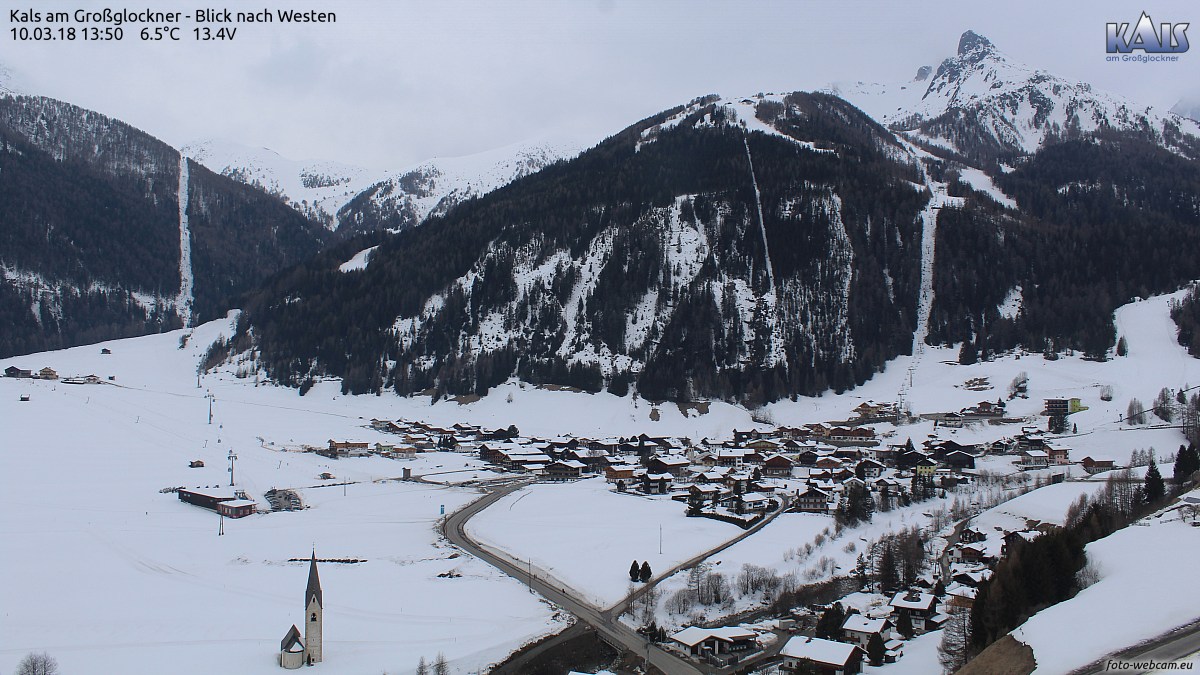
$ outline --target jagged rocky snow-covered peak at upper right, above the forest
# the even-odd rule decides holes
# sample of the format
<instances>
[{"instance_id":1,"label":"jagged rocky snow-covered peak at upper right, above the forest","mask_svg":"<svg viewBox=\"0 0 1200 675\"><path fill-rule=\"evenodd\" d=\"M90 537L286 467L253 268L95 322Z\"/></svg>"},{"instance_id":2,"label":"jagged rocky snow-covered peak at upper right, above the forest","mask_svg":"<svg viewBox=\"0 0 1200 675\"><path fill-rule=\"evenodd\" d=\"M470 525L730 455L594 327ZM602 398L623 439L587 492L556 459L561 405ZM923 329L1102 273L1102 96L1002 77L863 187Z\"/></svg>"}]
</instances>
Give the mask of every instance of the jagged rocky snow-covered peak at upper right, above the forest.
<instances>
[{"instance_id":1,"label":"jagged rocky snow-covered peak at upper right, above the forest","mask_svg":"<svg viewBox=\"0 0 1200 675\"><path fill-rule=\"evenodd\" d=\"M1200 123L1013 61L973 31L962 34L958 54L928 80L836 83L828 90L893 130L979 160L1028 155L1049 138L1104 127L1136 131L1164 148L1200 156Z\"/></svg>"}]
</instances>

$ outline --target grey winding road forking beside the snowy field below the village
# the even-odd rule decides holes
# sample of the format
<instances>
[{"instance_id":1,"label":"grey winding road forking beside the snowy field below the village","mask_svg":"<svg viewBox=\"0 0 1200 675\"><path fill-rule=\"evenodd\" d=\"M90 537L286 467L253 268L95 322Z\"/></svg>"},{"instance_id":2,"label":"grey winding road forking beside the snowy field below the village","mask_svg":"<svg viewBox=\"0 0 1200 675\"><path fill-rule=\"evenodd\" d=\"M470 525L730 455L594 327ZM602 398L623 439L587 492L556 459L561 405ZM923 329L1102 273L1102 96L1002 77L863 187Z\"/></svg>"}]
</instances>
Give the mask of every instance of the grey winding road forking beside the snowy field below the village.
<instances>
[{"instance_id":1,"label":"grey winding road forking beside the snowy field below the village","mask_svg":"<svg viewBox=\"0 0 1200 675\"><path fill-rule=\"evenodd\" d=\"M749 663L749 661L743 662L736 668L728 669L716 669L704 664L694 663L659 647L642 635L635 633L630 627L622 623L618 617L624 611L628 603L634 597L646 592L654 584L644 585L637 593L611 608L599 609L570 595L570 589L568 589L565 584L547 578L545 573L535 573L535 571L527 562L516 560L494 546L481 544L467 536L466 527L468 520L470 520L479 512L494 504L505 496L524 488L526 485L528 485L528 483L514 483L502 488L490 489L481 498L475 500L474 502L446 516L442 524L442 533L454 545L496 567L500 572L504 572L509 577L512 577L514 579L529 586L534 592L541 595L541 597L571 613L578 622L594 628L605 641L612 645L619 645L634 653L643 655L650 664L666 675L715 675L732 671L737 668L743 668L746 663ZM757 522L754 527L746 530L733 539L725 542L720 546L704 551L703 554L666 571L664 574L659 575L658 580L666 579L677 571L694 566L754 534L770 522L776 515L784 513L785 508L775 510ZM655 584L658 581L655 581ZM761 653L752 661L760 661L773 656L773 652L778 652L779 646L781 645L776 644L774 650L768 650L767 653Z\"/></svg>"}]
</instances>

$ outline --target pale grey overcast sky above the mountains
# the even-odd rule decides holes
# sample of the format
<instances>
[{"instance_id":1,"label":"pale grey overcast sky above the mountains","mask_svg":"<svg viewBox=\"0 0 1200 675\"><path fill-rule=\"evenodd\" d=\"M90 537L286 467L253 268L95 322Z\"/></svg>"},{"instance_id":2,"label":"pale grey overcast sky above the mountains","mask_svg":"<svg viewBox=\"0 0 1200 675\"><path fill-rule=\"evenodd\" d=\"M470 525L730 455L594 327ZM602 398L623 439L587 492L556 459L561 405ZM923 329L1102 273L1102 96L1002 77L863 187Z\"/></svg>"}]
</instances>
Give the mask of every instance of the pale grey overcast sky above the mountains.
<instances>
[{"instance_id":1,"label":"pale grey overcast sky above the mountains","mask_svg":"<svg viewBox=\"0 0 1200 675\"><path fill-rule=\"evenodd\" d=\"M34 2L68 8L66 4ZM13 7L16 5L10 5ZM121 2L73 2L70 8ZM217 137L293 159L396 169L547 132L601 137L703 94L898 82L967 29L1012 59L1170 107L1200 92L1177 64L1105 62L1104 24L1200 23L1192 1L143 0L130 8L311 7L336 24L240 24L232 42L16 42L18 88L120 118L173 145ZM1200 43L1200 26L1188 31ZM1190 91L1189 91L1190 90Z\"/></svg>"}]
</instances>

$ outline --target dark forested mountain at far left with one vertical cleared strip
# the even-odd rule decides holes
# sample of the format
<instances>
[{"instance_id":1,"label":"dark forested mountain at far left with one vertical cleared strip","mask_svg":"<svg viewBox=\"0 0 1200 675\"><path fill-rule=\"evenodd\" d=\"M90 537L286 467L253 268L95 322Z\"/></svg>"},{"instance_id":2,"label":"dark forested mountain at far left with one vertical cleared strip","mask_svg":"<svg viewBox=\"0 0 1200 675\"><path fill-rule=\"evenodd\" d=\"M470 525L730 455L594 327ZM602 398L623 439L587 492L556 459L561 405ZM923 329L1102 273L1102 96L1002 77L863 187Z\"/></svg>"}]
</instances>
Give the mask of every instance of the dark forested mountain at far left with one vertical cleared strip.
<instances>
[{"instance_id":1,"label":"dark forested mountain at far left with one vertical cleared strip","mask_svg":"<svg viewBox=\"0 0 1200 675\"><path fill-rule=\"evenodd\" d=\"M0 96L0 353L190 325L326 233L120 120Z\"/></svg>"}]
</instances>

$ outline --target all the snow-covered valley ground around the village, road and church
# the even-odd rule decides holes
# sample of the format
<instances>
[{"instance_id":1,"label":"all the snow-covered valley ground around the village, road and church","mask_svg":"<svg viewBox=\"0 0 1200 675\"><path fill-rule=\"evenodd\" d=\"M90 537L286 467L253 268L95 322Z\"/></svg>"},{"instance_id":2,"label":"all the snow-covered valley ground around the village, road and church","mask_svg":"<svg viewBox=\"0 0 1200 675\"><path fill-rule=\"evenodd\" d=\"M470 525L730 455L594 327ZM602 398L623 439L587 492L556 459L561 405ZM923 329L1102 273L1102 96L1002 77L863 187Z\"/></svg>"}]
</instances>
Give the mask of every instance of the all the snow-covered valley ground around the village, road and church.
<instances>
[{"instance_id":1,"label":"all the snow-covered valley ground around the village, road and church","mask_svg":"<svg viewBox=\"0 0 1200 675\"><path fill-rule=\"evenodd\" d=\"M1123 464L1133 449L1148 447L1163 456L1178 446L1178 430L1130 428L1117 419L1130 398L1148 404L1162 387L1200 382L1200 360L1175 344L1166 313L1170 298L1117 310L1115 321L1128 341L1128 357L1093 363L1072 356L1048 362L1025 354L961 366L955 363L955 350L929 348L912 372L912 359L898 358L858 389L782 401L756 417L775 424L845 419L864 400L895 400L908 378L911 386L902 388L913 412L952 411L980 400L1007 399L1008 383L1026 372L1028 399L1010 401L1010 416L1037 416L1048 396L1079 396L1090 406L1072 416L1078 434L1060 440L1072 448L1073 459L1090 454ZM288 560L307 555L313 545L322 557L367 561L322 567L326 663L336 663L338 673L403 673L419 657L432 658L438 651L445 652L456 670L473 671L558 625L553 610L516 581L470 558L451 557L454 551L438 543L434 524L442 507L449 513L475 496L452 485L496 476L457 453L431 453L409 461L328 460L295 452L302 444L320 446L330 438L395 440L371 430L372 418L487 428L516 424L524 435L545 437L647 432L694 441L727 438L734 428L772 426L725 404L714 402L701 414L673 404L515 382L464 405L452 400L431 405L425 398L343 396L336 382L318 383L301 398L290 389L256 387L253 377L234 377L238 364L198 383L196 364L228 330L226 319L197 328L184 347L184 333L175 331L5 359L5 366L50 366L62 376L96 374L106 383L0 378L0 536L6 551L16 551L0 556L0 574L19 581L11 583L0 598L0 634L5 635L0 671L11 669L25 652L44 649L72 673L157 673L163 663L181 673L274 673L278 640L300 621L305 568ZM101 347L113 353L102 356ZM971 378L986 378L991 388L965 388ZM1112 401L1100 401L1103 384L1112 387ZM211 425L205 398L210 392ZM18 401L25 394L31 400ZM1019 430L1015 425L935 429L932 422L878 429L887 442L896 443L906 437L919 443L935 434L970 443ZM265 506L265 490L295 488L311 508L227 520L226 534L218 537L215 514L160 494L167 486L227 483L230 448L238 454L238 484L251 497ZM187 468L196 459L206 467ZM406 467L427 476L428 483L383 482L401 476ZM320 480L322 472L336 479ZM343 488L343 480L349 485ZM1039 490L1028 503L1010 502L1004 508L1009 518L1057 519L1078 495L1067 492L1076 489L1084 488ZM845 569L869 540L923 518L904 512L892 512L888 519L876 516L870 532L847 532L814 551L806 565L828 556ZM736 572L745 562L788 562L787 550L810 542L823 530L823 521L820 516L781 518L718 556L721 567ZM686 519L679 502L612 494L600 480L523 490L486 510L473 521L473 530L516 557L533 558L535 572L540 568L562 579L601 605L626 592L631 560L647 560L661 573L740 532L722 522ZM1134 527L1124 537L1150 531L1184 542L1194 532L1166 524ZM858 539L857 550L846 550L853 539ZM1166 543L1138 540L1128 550ZM1080 598L1098 596L1097 589L1108 589L1115 598L1127 587L1123 580L1132 579L1126 573L1132 563L1109 551L1109 545L1093 545L1104 580ZM1139 556L1153 558L1156 574L1178 573L1174 556ZM438 578L450 571L462 577ZM1147 626L1146 631L1162 628L1153 622Z\"/></svg>"}]
</instances>

